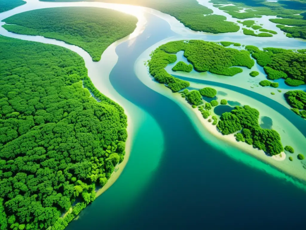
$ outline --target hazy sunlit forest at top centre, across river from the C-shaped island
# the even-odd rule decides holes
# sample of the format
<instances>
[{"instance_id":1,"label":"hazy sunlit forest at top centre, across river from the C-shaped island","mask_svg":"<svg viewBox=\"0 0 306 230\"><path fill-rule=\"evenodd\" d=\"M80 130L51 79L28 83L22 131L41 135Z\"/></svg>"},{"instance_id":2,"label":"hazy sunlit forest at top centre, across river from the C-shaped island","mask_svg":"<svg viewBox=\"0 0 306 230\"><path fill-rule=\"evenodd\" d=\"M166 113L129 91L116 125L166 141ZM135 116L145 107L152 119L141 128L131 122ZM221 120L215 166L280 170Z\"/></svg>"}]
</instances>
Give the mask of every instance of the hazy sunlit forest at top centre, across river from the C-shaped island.
<instances>
[{"instance_id":1,"label":"hazy sunlit forest at top centre, across river from the C-shaped island","mask_svg":"<svg viewBox=\"0 0 306 230\"><path fill-rule=\"evenodd\" d=\"M40 0L47 2L83 2L84 0ZM86 0L92 2L92 0ZM226 21L222 15L212 14L213 10L200 5L196 0L96 0L145 6L169 14L183 23L187 28L209 33L237 32L240 27L234 22Z\"/></svg>"}]
</instances>

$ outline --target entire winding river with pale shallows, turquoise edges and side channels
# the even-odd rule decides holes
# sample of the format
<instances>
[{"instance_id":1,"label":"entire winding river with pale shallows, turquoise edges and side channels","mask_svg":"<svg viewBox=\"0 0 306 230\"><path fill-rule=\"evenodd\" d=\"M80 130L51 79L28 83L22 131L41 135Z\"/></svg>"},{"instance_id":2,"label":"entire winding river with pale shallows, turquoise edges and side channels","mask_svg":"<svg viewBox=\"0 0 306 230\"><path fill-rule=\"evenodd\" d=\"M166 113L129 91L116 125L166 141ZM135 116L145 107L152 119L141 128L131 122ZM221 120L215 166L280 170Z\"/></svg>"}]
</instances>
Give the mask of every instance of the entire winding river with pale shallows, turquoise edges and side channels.
<instances>
[{"instance_id":1,"label":"entire winding river with pale shallows, turquoise edges and side channels","mask_svg":"<svg viewBox=\"0 0 306 230\"><path fill-rule=\"evenodd\" d=\"M13 34L0 28L4 36L56 44L77 52L83 57L96 88L122 105L128 115L129 159L119 165L117 176L113 178L118 178L116 182L67 229L287 229L303 226L304 183L278 170L277 165L272 167L211 135L190 107L175 96L177 94L150 78L144 60L157 46L170 40L239 41L260 48L292 49L306 47L304 41L289 39L282 33L272 38L257 38L244 36L241 31L217 35L193 32L156 10L97 2L29 0L23 6L0 13L0 20L27 10L65 6L113 8L139 19L135 32L107 48L99 62L92 62L88 53L76 46L41 36ZM267 18L271 17L260 20L270 29ZM224 95L237 98L241 103L253 100L252 104L262 107L261 114L271 117L273 128L283 130L282 139L289 139L289 144L296 141L293 139L301 141L297 149L302 151L305 122L289 111L281 96L271 99L261 89L255 91L249 85L240 85L237 79L231 85L229 78L206 75L205 80L196 73L179 77L188 78L190 88L214 85L218 91L225 91ZM237 78L242 79L243 75ZM281 85L281 89L285 87ZM305 86L300 88L305 89ZM304 123L298 125L298 122ZM301 167L297 160L294 163Z\"/></svg>"}]
</instances>

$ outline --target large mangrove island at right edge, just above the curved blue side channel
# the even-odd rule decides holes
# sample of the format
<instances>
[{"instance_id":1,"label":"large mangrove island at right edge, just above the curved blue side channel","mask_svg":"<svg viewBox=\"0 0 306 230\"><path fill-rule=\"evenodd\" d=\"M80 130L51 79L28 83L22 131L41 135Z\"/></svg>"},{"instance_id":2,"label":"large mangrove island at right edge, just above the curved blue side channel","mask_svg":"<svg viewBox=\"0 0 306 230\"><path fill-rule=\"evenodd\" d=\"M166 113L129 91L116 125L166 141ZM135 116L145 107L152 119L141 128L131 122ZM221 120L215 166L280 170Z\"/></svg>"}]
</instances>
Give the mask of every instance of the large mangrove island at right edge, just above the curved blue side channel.
<instances>
[{"instance_id":1,"label":"large mangrove island at right edge, just above the curved blue side channel","mask_svg":"<svg viewBox=\"0 0 306 230\"><path fill-rule=\"evenodd\" d=\"M287 78L285 83L291 86L304 84L306 80L306 54L281 48L246 46L260 66L264 67L269 79Z\"/></svg>"}]
</instances>

